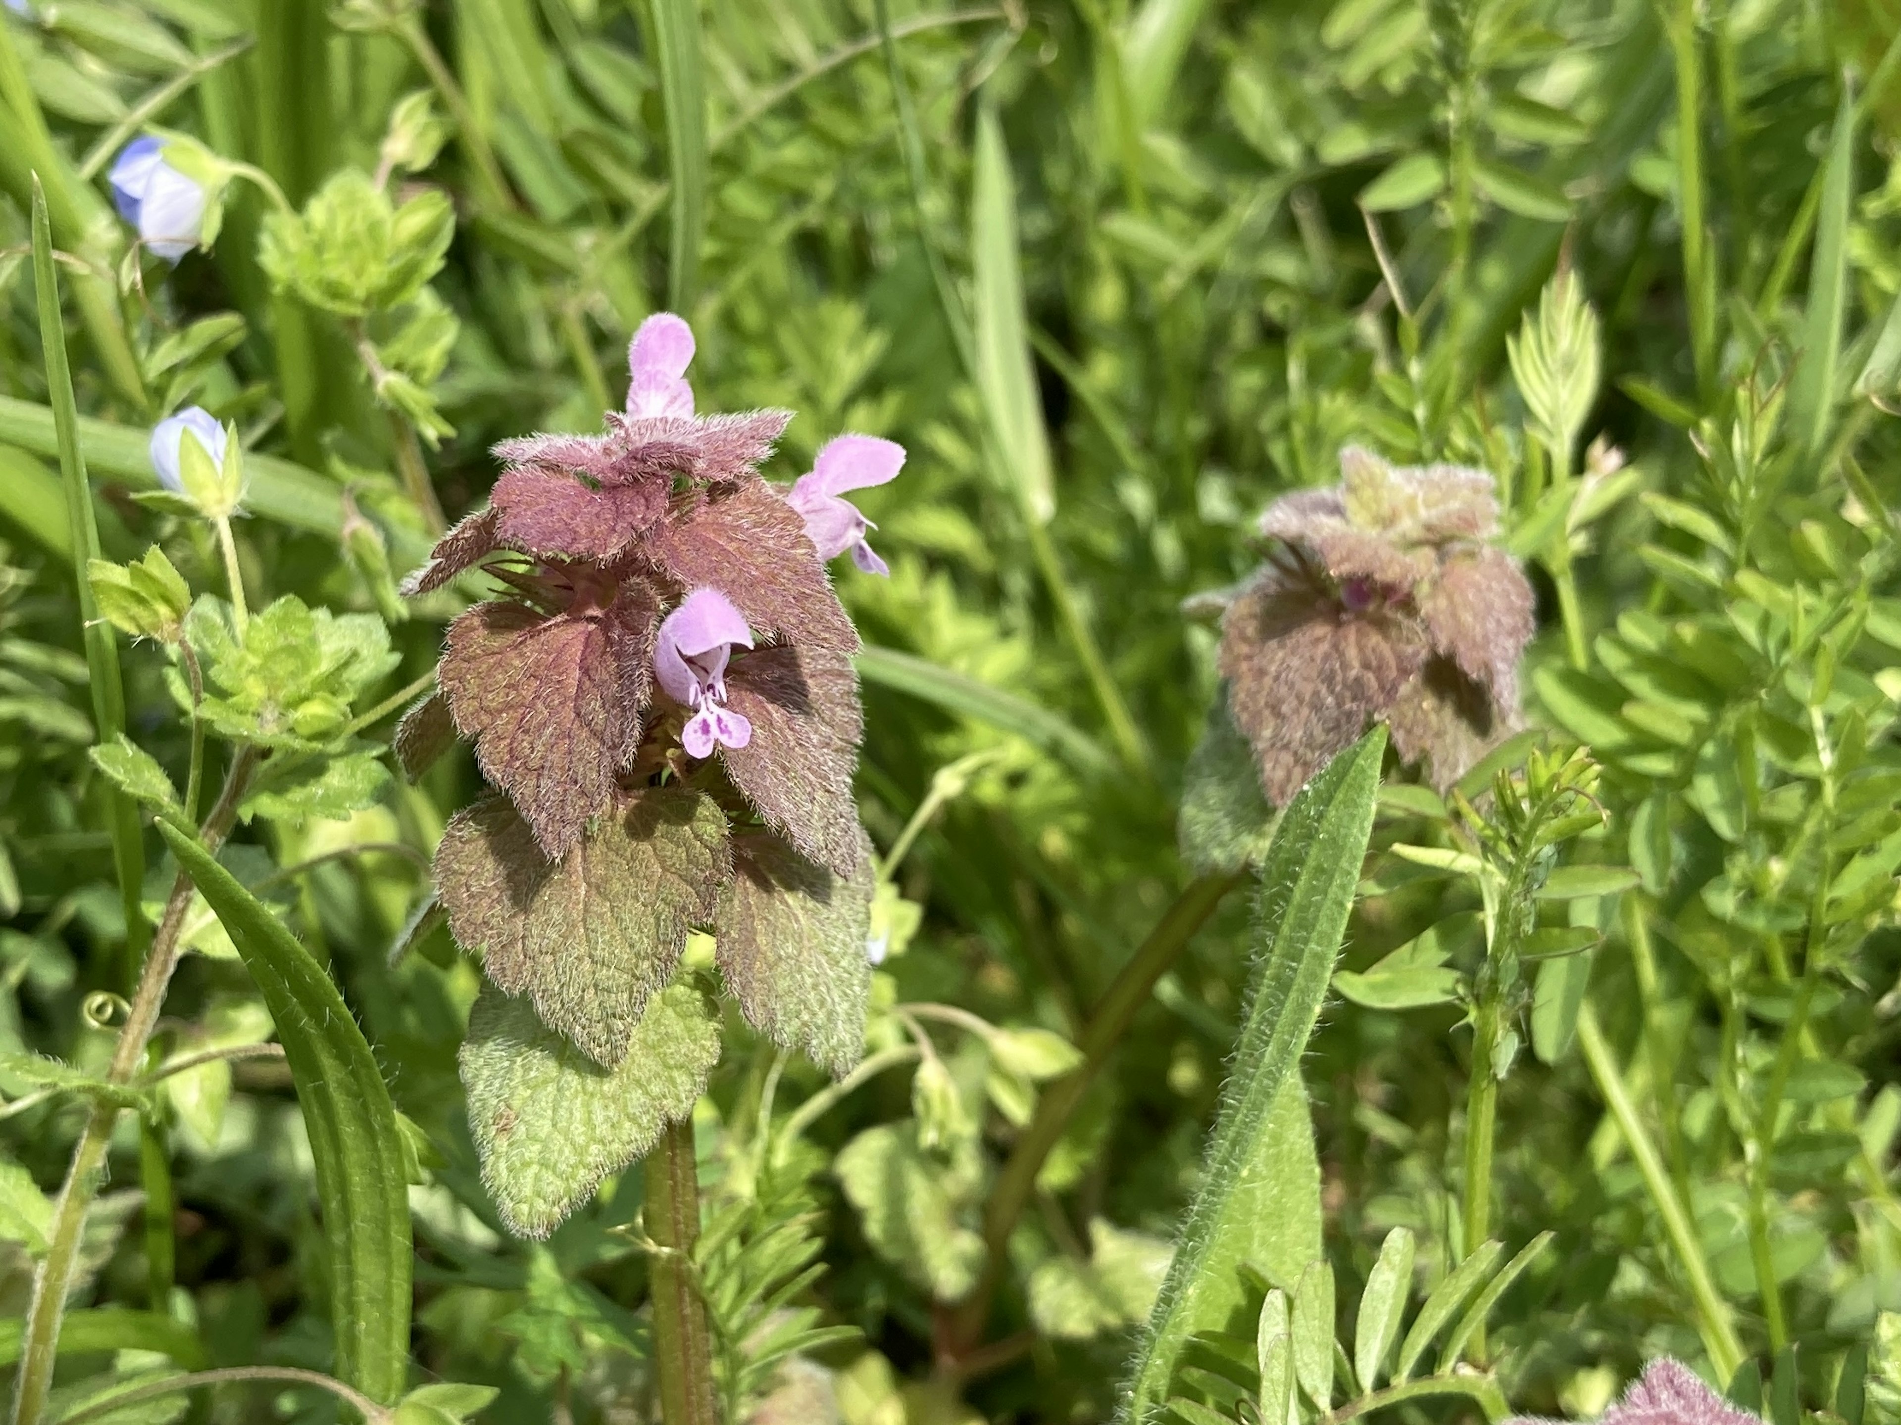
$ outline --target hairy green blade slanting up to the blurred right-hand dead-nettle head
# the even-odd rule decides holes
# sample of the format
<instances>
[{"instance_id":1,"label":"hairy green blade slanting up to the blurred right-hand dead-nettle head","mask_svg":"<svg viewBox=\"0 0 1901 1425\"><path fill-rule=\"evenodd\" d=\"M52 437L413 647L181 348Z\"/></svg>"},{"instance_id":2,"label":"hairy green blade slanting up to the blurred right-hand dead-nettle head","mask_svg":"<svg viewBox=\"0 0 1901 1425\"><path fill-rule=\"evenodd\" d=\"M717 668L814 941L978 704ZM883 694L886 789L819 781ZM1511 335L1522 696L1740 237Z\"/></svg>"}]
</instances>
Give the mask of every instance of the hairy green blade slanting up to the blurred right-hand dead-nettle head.
<instances>
[{"instance_id":1,"label":"hairy green blade slanting up to the blurred right-hand dead-nettle head","mask_svg":"<svg viewBox=\"0 0 1901 1425\"><path fill-rule=\"evenodd\" d=\"M1298 1085L1300 1051L1319 1018L1354 908L1384 752L1384 728L1340 752L1287 806L1268 847L1255 918L1258 960L1234 1056L1236 1074L1215 1123L1205 1186L1188 1210L1156 1300L1118 1416L1122 1421L1143 1421L1167 1398L1169 1376L1186 1340L1222 1326L1230 1309L1241 1254L1262 1206L1272 1201L1249 1180L1249 1168L1258 1163L1257 1146L1276 1100L1283 1089ZM1304 1094L1300 1110L1306 1110ZM1312 1191L1317 1218L1317 1180ZM1277 1203L1283 1214L1289 1206Z\"/></svg>"}]
</instances>

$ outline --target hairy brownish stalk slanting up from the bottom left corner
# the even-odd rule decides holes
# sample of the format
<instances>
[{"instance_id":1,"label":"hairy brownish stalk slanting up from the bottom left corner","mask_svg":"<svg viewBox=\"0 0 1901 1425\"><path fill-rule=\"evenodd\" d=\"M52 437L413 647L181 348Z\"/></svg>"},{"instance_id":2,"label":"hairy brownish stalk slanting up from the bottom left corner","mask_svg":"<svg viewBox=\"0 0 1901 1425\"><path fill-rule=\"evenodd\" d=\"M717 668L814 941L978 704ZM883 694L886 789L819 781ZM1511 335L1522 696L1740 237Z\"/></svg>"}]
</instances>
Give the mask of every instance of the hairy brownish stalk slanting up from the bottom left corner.
<instances>
[{"instance_id":1,"label":"hairy brownish stalk slanting up from the bottom left corner","mask_svg":"<svg viewBox=\"0 0 1901 1425\"><path fill-rule=\"evenodd\" d=\"M251 783L257 760L259 754L249 747L232 760L224 790L200 830L200 840L207 849L217 851L230 834L232 821L238 817L238 802ZM144 1049L165 1003L171 973L179 967L179 931L184 927L184 912L190 904L192 880L181 870L171 884L165 914L160 916L158 933L144 958L125 1024L112 1047L112 1064L106 1070L110 1083L131 1083L144 1064ZM46 1256L32 1279L32 1302L27 1305L27 1322L21 1332L19 1374L13 1379L13 1425L38 1425L46 1410L46 1396L53 1385L53 1360L59 1351L59 1322L67 1311L67 1292L72 1286L72 1271L86 1233L86 1208L105 1176L106 1146L112 1140L118 1113L116 1104L95 1102L86 1115L80 1142L72 1150L72 1165L67 1168L67 1182L53 1206L53 1220L46 1233Z\"/></svg>"}]
</instances>

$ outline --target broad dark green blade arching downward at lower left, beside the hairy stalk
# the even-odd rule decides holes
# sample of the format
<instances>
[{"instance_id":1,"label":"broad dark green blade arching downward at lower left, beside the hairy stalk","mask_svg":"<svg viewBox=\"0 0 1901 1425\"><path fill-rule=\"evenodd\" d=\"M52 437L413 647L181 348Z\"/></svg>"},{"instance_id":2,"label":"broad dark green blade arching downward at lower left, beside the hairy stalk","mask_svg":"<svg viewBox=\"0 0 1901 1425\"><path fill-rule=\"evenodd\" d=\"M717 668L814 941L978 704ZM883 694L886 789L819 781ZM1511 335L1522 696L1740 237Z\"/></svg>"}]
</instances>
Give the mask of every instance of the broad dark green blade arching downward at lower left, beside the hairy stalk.
<instances>
[{"instance_id":1,"label":"broad dark green blade arching downward at lower left, beside the hairy stalk","mask_svg":"<svg viewBox=\"0 0 1901 1425\"><path fill-rule=\"evenodd\" d=\"M160 823L264 996L310 1132L331 1246L336 1374L394 1402L409 1378L411 1235L403 1140L363 1030L310 952L192 836Z\"/></svg>"}]
</instances>

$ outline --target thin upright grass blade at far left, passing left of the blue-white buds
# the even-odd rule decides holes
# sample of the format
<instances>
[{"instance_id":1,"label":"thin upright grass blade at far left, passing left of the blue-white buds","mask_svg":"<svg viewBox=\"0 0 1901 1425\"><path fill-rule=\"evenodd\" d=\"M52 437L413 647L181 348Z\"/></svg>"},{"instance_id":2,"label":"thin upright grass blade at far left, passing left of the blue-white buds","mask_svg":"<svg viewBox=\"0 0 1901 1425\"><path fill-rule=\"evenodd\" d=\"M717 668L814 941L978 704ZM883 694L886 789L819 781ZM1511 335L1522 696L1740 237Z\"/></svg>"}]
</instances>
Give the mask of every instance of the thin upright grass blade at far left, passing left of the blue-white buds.
<instances>
[{"instance_id":1,"label":"thin upright grass blade at far left, passing left of the blue-white buds","mask_svg":"<svg viewBox=\"0 0 1901 1425\"><path fill-rule=\"evenodd\" d=\"M59 477L67 488L67 530L74 553L74 583L80 591L86 682L93 695L93 735L105 745L125 732L125 684L120 680L116 635L112 625L99 618L93 585L86 578L87 560L99 559L99 524L93 519L93 490L86 483L80 410L72 399L72 369L67 363L67 325L59 308L59 279L53 276L53 222L48 217L46 196L38 182L32 188L32 281L40 302L46 390L53 401L49 412L53 416L53 446L59 454ZM99 796L106 808L112 870L118 874L120 904L125 908L125 960L137 967L144 960L146 944L150 944L150 927L139 904L139 887L144 884L139 806L116 787L101 787Z\"/></svg>"}]
</instances>

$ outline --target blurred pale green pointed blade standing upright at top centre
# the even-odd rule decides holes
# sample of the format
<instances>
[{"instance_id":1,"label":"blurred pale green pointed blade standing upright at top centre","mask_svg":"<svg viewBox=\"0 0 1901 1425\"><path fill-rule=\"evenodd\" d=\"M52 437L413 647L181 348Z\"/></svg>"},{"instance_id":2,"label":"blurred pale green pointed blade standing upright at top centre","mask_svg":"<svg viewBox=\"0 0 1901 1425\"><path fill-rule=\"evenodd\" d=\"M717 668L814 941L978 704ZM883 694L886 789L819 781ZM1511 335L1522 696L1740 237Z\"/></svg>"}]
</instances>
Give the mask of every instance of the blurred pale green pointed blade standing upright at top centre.
<instances>
[{"instance_id":1,"label":"blurred pale green pointed blade standing upright at top centre","mask_svg":"<svg viewBox=\"0 0 1901 1425\"><path fill-rule=\"evenodd\" d=\"M1017 251L1017 194L996 110L977 112L977 154L970 198L970 251L977 298L977 390L990 424L998 475L1025 519L1047 524L1055 513L1049 435L1030 367Z\"/></svg>"}]
</instances>

